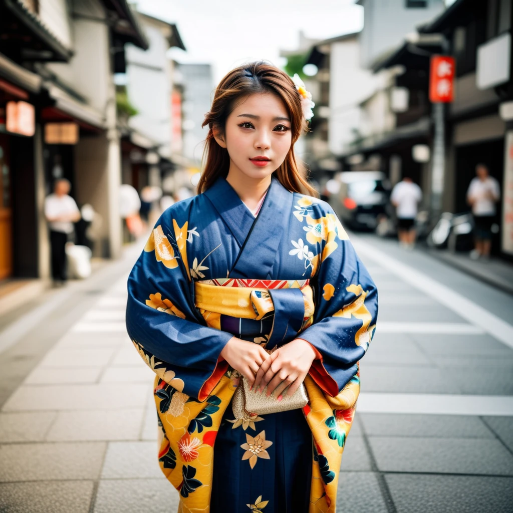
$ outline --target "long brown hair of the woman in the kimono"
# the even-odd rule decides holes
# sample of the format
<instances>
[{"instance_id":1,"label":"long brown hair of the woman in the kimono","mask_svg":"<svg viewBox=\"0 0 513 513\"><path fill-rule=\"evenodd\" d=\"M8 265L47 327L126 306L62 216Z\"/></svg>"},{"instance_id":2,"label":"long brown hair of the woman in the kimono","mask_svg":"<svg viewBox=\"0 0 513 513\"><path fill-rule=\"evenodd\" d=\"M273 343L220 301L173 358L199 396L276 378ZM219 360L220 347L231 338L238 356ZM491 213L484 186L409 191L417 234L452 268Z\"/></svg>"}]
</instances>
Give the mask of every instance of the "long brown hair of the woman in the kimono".
<instances>
[{"instance_id":1,"label":"long brown hair of the woman in the kimono","mask_svg":"<svg viewBox=\"0 0 513 513\"><path fill-rule=\"evenodd\" d=\"M306 128L301 107L301 95L291 78L281 69L263 61L244 64L230 71L221 81L214 93L210 112L205 114L202 127L208 125L205 144L205 167L198 183L198 192L209 189L220 177L226 178L230 168L230 157L226 148L222 148L214 139L216 134L224 135L225 123L235 102L250 94L272 93L280 98L288 111L291 121L292 144L281 166L275 170L275 176L289 191L317 196L317 191L307 182L306 170L298 164L294 155L294 143Z\"/></svg>"}]
</instances>

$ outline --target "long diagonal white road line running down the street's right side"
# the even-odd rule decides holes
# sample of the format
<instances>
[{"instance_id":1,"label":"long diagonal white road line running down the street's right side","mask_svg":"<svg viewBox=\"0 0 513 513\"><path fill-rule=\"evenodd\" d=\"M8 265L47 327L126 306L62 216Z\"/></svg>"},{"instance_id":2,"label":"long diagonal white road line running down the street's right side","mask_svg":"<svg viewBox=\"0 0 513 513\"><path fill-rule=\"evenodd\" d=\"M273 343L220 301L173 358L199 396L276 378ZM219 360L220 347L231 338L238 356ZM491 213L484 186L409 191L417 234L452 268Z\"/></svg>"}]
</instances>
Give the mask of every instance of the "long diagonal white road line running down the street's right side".
<instances>
[{"instance_id":1,"label":"long diagonal white road line running down the street's right side","mask_svg":"<svg viewBox=\"0 0 513 513\"><path fill-rule=\"evenodd\" d=\"M451 288L429 278L417 269L390 257L385 252L356 237L354 238L354 246L361 255L365 254L365 257L387 268L404 282L422 290L431 298L456 312L463 319L466 319L475 326L479 326L492 337L513 348L513 326L503 321L497 315L473 303ZM379 322L378 330L380 330Z\"/></svg>"}]
</instances>

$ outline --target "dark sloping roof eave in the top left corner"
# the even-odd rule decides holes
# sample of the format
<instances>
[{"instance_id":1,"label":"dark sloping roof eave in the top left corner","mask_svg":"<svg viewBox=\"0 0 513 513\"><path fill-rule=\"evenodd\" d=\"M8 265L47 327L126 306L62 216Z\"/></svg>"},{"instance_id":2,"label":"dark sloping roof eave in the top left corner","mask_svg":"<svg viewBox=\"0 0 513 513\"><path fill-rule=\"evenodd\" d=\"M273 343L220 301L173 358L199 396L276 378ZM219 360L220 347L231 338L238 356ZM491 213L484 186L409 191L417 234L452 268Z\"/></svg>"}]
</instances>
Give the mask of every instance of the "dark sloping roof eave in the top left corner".
<instances>
[{"instance_id":1,"label":"dark sloping roof eave in the top left corner","mask_svg":"<svg viewBox=\"0 0 513 513\"><path fill-rule=\"evenodd\" d=\"M73 52L22 0L0 5L0 51L16 60L68 62Z\"/></svg>"}]
</instances>

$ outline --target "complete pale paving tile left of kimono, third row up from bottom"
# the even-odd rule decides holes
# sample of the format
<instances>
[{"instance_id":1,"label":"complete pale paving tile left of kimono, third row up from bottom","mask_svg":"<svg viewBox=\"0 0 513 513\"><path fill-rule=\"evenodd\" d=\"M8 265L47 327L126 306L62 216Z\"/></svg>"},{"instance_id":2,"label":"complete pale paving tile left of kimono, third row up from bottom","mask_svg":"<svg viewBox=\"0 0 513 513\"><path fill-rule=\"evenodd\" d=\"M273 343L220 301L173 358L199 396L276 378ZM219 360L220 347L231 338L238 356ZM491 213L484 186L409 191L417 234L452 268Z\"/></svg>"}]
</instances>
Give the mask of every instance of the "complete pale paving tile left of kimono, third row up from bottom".
<instances>
[{"instance_id":1,"label":"complete pale paving tile left of kimono, third row up from bottom","mask_svg":"<svg viewBox=\"0 0 513 513\"><path fill-rule=\"evenodd\" d=\"M138 440L144 408L61 411L47 435L50 442Z\"/></svg>"}]
</instances>

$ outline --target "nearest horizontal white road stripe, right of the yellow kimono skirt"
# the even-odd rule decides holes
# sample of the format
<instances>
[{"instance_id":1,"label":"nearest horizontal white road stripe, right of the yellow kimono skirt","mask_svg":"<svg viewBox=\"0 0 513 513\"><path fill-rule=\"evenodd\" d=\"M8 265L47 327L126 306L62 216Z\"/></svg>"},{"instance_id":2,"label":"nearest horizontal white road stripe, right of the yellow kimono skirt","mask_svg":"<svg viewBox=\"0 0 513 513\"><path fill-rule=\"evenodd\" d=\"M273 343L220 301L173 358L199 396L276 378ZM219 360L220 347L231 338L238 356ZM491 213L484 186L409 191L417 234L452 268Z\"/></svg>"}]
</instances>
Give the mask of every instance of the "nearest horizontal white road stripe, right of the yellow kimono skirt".
<instances>
[{"instance_id":1,"label":"nearest horizontal white road stripe, right of the yellow kimono skirt","mask_svg":"<svg viewBox=\"0 0 513 513\"><path fill-rule=\"evenodd\" d=\"M511 396L467 396L431 393L362 392L359 413L513 416Z\"/></svg>"}]
</instances>

